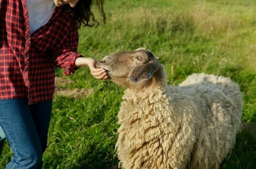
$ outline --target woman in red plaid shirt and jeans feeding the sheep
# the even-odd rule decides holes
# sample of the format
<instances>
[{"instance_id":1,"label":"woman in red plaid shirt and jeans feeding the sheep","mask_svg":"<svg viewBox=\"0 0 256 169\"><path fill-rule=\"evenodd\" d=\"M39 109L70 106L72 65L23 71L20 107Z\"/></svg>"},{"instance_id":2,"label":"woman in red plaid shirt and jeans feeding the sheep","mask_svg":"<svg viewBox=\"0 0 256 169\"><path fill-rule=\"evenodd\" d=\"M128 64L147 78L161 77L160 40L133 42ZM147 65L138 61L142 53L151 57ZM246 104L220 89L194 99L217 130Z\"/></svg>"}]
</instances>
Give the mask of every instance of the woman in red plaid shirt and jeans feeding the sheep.
<instances>
[{"instance_id":1,"label":"woman in red plaid shirt and jeans feeding the sheep","mask_svg":"<svg viewBox=\"0 0 256 169\"><path fill-rule=\"evenodd\" d=\"M78 28L93 26L93 0L0 0L0 125L12 160L6 166L41 169L46 149L55 66L64 74L88 66L105 80L97 60L77 53ZM104 0L95 0L105 23Z\"/></svg>"}]
</instances>

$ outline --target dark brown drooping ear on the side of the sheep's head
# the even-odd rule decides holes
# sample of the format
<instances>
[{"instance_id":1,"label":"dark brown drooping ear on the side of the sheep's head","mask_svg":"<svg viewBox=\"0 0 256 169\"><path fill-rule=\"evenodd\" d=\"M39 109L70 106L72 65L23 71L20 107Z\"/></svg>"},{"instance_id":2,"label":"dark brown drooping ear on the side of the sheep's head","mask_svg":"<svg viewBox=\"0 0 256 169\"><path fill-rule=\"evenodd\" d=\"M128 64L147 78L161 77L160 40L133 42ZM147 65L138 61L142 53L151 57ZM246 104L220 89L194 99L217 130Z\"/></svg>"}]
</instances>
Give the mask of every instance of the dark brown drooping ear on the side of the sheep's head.
<instances>
[{"instance_id":1,"label":"dark brown drooping ear on the side of the sheep's head","mask_svg":"<svg viewBox=\"0 0 256 169\"><path fill-rule=\"evenodd\" d=\"M154 72L157 71L158 65L156 60L151 60L147 64L134 67L130 72L129 78L134 82L148 80L152 78Z\"/></svg>"}]
</instances>

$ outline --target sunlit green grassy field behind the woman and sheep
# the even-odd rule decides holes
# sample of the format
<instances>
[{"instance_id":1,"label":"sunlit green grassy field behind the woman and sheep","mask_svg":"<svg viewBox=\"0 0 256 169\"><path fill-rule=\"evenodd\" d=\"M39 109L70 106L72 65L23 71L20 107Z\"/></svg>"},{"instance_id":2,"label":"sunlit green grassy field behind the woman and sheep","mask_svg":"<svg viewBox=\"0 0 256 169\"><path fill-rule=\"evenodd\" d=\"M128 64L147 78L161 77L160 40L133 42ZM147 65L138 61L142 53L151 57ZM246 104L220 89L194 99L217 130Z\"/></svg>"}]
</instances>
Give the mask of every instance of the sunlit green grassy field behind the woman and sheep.
<instances>
[{"instance_id":1,"label":"sunlit green grassy field behind the woman and sheep","mask_svg":"<svg viewBox=\"0 0 256 169\"><path fill-rule=\"evenodd\" d=\"M119 51L150 49L168 83L192 73L232 78L243 93L243 128L224 169L256 166L256 1L107 0L107 23L79 30L79 52L101 60ZM56 69L56 94L43 156L45 169L117 169L116 115L125 88L93 78L89 68L68 77ZM4 169L12 152L7 143Z\"/></svg>"}]
</instances>

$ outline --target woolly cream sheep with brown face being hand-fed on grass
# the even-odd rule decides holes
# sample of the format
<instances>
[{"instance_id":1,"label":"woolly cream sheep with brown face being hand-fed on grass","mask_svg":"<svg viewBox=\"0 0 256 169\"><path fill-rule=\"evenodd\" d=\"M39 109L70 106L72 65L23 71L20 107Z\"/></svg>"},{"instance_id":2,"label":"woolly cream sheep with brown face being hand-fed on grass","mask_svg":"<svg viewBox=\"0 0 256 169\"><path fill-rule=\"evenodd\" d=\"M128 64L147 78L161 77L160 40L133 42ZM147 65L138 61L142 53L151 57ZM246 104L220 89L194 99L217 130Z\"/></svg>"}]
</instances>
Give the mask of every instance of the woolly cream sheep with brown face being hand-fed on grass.
<instances>
[{"instance_id":1,"label":"woolly cream sheep with brown face being hand-fed on grass","mask_svg":"<svg viewBox=\"0 0 256 169\"><path fill-rule=\"evenodd\" d=\"M164 65L144 48L106 56L97 67L127 88L117 115L120 168L220 168L241 125L242 96L230 78L192 74L168 86Z\"/></svg>"}]
</instances>

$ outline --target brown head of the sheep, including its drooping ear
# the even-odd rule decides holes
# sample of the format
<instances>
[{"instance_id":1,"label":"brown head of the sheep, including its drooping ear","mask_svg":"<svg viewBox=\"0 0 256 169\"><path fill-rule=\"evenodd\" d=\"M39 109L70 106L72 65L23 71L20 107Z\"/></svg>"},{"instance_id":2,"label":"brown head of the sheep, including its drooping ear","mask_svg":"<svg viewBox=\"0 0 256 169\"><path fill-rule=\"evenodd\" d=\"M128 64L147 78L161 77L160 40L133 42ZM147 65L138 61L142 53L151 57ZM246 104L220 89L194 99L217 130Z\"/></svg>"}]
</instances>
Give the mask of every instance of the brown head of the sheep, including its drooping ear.
<instances>
[{"instance_id":1,"label":"brown head of the sheep, including its drooping ear","mask_svg":"<svg viewBox=\"0 0 256 169\"><path fill-rule=\"evenodd\" d=\"M127 88L145 83L159 65L157 58L144 48L112 54L97 63L97 67L106 70L109 80Z\"/></svg>"}]
</instances>

